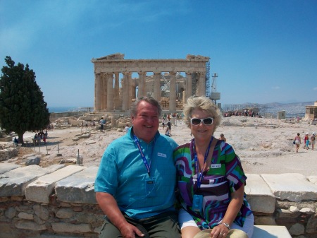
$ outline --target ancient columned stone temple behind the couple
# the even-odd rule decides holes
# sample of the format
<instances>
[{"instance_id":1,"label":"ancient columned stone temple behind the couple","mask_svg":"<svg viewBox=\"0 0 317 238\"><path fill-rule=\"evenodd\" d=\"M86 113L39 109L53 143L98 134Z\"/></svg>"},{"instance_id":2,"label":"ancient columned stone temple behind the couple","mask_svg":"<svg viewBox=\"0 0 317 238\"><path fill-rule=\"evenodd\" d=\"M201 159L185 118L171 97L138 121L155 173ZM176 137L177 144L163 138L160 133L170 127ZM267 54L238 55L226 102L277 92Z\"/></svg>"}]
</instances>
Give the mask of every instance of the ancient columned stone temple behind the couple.
<instances>
[{"instance_id":1,"label":"ancient columned stone temple behind the couple","mask_svg":"<svg viewBox=\"0 0 317 238\"><path fill-rule=\"evenodd\" d=\"M207 95L209 57L187 54L186 59L124 59L110 54L92 59L94 111L125 112L137 97L151 96L163 109L182 109L192 95ZM138 77L132 78L132 74Z\"/></svg>"}]
</instances>

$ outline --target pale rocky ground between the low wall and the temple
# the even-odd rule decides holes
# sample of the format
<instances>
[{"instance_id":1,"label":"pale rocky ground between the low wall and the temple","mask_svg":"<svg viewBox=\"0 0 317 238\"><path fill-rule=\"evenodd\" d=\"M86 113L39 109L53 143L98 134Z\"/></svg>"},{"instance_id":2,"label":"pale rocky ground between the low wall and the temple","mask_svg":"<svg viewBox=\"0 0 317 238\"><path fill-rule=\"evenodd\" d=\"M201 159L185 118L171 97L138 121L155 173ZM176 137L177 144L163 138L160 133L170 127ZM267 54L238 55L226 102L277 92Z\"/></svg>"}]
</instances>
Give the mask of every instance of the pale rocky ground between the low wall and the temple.
<instances>
[{"instance_id":1,"label":"pale rocky ground between the low wall and the temple","mask_svg":"<svg viewBox=\"0 0 317 238\"><path fill-rule=\"evenodd\" d=\"M255 126L256 125L256 126ZM159 131L164 132L162 127ZM249 174L281 174L299 173L305 176L317 175L317 148L303 149L304 135L316 131L317 126L307 121L289 123L278 119L254 119L249 117L223 118L221 125L214 133L220 137L225 134L227 143L232 145L242 160L244 172ZM85 129L82 132L86 132ZM22 147L19 155L6 162L15 162L23 165L25 157L30 154L41 154L41 166L65 163L66 160L83 155L83 165L98 166L106 146L125 132L111 129L100 132L88 129L89 138L73 141L81 133L80 128L55 129L49 131L46 145L37 147ZM182 144L191 139L190 131L182 121L172 126L172 138ZM302 145L296 153L292 141L297 133L301 134ZM32 138L34 133L25 133L24 138ZM57 156L57 154L61 156Z\"/></svg>"}]
</instances>

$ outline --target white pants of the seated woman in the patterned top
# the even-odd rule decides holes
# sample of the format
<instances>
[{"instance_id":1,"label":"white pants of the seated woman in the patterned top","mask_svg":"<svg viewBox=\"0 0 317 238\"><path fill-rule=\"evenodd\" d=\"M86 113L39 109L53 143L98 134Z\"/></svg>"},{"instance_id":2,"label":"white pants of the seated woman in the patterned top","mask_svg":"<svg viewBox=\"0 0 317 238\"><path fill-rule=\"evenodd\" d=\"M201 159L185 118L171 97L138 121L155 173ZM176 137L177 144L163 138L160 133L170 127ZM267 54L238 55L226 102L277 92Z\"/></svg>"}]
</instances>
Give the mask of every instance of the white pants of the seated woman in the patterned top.
<instances>
[{"instance_id":1,"label":"white pants of the seated woman in the patterned top","mask_svg":"<svg viewBox=\"0 0 317 238\"><path fill-rule=\"evenodd\" d=\"M190 215L183 208L180 209L178 213L178 223L180 223L180 230L182 230L182 228L184 227L198 227L196 222L192 218L192 215ZM254 230L254 215L251 214L247 216L247 218L245 218L243 227L240 227L240 225L232 223L230 228L243 230L244 232L247 233L248 237L251 238L253 234L253 230Z\"/></svg>"}]
</instances>

